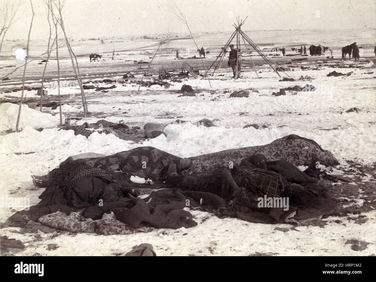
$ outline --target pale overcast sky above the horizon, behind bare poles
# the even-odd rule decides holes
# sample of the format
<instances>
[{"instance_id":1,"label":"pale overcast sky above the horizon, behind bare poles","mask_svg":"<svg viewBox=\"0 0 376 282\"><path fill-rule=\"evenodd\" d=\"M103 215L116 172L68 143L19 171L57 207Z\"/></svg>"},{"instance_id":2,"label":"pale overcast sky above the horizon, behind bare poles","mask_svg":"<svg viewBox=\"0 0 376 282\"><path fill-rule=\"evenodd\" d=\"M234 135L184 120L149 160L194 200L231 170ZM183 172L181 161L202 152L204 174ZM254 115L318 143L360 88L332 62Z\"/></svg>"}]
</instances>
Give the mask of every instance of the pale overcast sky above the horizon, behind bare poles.
<instances>
[{"instance_id":1,"label":"pale overcast sky above the horizon, behind bare poles","mask_svg":"<svg viewBox=\"0 0 376 282\"><path fill-rule=\"evenodd\" d=\"M173 3L185 14L193 33L232 31L237 16L248 16L245 31L376 28L376 0L66 0L63 19L71 38L188 34L186 26L170 12ZM42 0L33 0L33 7L31 39L48 38ZM20 14L7 39L27 39L29 1L22 2Z\"/></svg>"}]
</instances>

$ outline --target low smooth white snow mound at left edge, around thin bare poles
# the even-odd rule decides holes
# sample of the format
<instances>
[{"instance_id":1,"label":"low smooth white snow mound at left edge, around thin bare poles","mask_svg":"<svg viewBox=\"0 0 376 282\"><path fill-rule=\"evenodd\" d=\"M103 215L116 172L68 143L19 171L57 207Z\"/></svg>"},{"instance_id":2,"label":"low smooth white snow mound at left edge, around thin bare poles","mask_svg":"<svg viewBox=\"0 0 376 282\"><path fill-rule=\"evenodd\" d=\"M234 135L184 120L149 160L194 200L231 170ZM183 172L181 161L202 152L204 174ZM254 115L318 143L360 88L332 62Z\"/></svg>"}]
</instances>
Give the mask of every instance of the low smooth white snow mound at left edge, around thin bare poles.
<instances>
[{"instance_id":1,"label":"low smooth white snow mound at left edge, around thin bare poles","mask_svg":"<svg viewBox=\"0 0 376 282\"><path fill-rule=\"evenodd\" d=\"M8 129L15 130L18 108L18 104L0 104L0 131ZM59 115L53 116L49 113L41 113L37 110L29 109L27 105L22 105L18 129L23 129L25 126L31 126L33 128L55 127L58 124L60 124Z\"/></svg>"}]
</instances>

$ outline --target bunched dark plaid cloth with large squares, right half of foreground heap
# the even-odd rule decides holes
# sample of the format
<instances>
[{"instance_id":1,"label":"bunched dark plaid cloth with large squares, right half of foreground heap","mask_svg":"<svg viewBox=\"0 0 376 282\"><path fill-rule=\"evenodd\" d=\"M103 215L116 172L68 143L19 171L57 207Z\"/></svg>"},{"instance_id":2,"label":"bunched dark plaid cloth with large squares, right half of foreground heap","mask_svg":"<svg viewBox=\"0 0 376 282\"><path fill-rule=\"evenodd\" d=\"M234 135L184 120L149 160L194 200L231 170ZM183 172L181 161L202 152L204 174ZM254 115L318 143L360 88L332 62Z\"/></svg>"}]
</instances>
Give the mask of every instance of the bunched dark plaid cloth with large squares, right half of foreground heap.
<instances>
[{"instance_id":1,"label":"bunched dark plaid cloth with large squares, right half of foreground heap","mask_svg":"<svg viewBox=\"0 0 376 282\"><path fill-rule=\"evenodd\" d=\"M253 169L244 174L238 181L238 186L247 191L267 195L268 197L280 197L285 190L282 177L272 171Z\"/></svg>"}]
</instances>

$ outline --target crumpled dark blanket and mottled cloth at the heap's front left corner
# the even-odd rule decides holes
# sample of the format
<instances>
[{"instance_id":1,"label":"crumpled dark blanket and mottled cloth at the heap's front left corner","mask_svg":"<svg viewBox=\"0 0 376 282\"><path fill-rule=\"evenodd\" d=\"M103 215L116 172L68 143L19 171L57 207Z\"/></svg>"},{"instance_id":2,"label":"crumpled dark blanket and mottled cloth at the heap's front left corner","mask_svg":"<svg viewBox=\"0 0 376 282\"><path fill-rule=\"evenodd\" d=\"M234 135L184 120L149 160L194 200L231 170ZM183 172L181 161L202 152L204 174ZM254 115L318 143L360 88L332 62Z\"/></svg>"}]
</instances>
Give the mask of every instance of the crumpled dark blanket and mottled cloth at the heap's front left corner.
<instances>
[{"instance_id":1,"label":"crumpled dark blanket and mottled cloth at the heap's front left corner","mask_svg":"<svg viewBox=\"0 0 376 282\"><path fill-rule=\"evenodd\" d=\"M186 206L185 196L176 190L160 190L147 199L132 198L127 202L108 202L83 209L68 207L66 204L43 205L42 200L30 207L29 211L15 213L5 226L27 227L30 221L34 221L65 231L110 235L146 232L151 231L150 228L177 229L197 225L191 213L183 210ZM115 218L111 218L108 213Z\"/></svg>"}]
</instances>

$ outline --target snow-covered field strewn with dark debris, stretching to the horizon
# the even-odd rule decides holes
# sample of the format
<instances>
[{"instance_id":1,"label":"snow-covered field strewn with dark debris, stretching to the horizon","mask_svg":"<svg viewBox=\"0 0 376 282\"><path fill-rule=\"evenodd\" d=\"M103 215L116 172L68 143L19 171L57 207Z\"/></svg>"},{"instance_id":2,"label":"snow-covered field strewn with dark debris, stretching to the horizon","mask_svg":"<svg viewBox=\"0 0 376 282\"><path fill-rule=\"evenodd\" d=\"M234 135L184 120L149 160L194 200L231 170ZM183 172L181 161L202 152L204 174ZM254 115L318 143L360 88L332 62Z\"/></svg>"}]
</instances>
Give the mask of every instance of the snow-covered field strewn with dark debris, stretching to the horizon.
<instances>
[{"instance_id":1,"label":"snow-covered field strewn with dark debris, stretching to the horizon","mask_svg":"<svg viewBox=\"0 0 376 282\"><path fill-rule=\"evenodd\" d=\"M355 33L355 32L354 32ZM303 36L304 34L309 34ZM312 35L313 34L313 35ZM215 60L219 53L219 46L226 41L230 34L200 34L200 42L205 42L211 54L206 57L206 69ZM260 48L273 48L276 45L300 47L308 44L307 40L319 37L319 34L307 32L295 41L279 41L267 38L263 41L261 36L253 34L254 41ZM302 222L299 225L290 224L256 224L240 219L219 219L210 213L191 211L197 227L180 228L178 230L156 229L150 233L136 233L128 235L103 236L93 233L69 233L56 231L43 233L37 231L28 233L25 228L7 227L0 229L0 234L9 238L19 239L26 248L23 250L12 249L12 255L122 255L141 243L152 244L158 256L190 256L190 255L279 255L279 256L368 256L376 253L376 237L374 236L376 202L375 202L375 144L376 137L376 105L375 105L375 63L376 60L373 44L367 36L374 34L357 33L358 46L363 48L359 62L341 60L340 46L352 43L350 39L343 42L337 39L335 32L324 32L325 41L334 46L334 58L327 58L330 52L319 57L273 57L272 59L281 67L290 70L280 72L282 77L290 76L295 80L310 77L303 81L279 81L281 78L265 64L260 57L253 56L255 69L250 63L247 54L243 55L241 78L231 80L232 71L224 60L218 75L208 80L183 79L182 82L170 82L171 86L154 85L141 87L137 94L138 85L122 83L123 74L130 71L135 75L132 80L139 80L142 69L147 64L134 64L133 61L150 61L149 56L140 54L141 50L156 49L158 41L139 40L130 43L127 38L127 48L116 43L118 50L129 50L115 53L115 60L111 60L115 43L94 44L89 46L88 41L75 42L74 50L79 57L78 62L83 76L83 82L103 80L109 78L116 80L114 83L88 83L98 87L115 85L116 88L108 92L97 92L95 89L85 90L88 101L89 116L82 118L77 125L84 122L92 123L104 118L107 121L118 122L124 120L129 127L140 126L145 123L162 123L167 137L160 135L157 138L135 143L117 138L115 135L93 133L86 138L74 135L73 130L59 130L59 108L39 107L35 103L24 106L21 113L21 132L11 132L17 119L18 106L4 103L21 96L21 91L9 92L22 86L21 78L23 67L14 74L8 75L9 80L1 81L0 98L0 197L30 198L30 205L39 202L38 196L44 190L33 186L31 175L46 174L54 169L61 161L71 155L94 152L110 155L139 146L153 146L180 157L190 157L205 153L218 152L226 149L240 148L268 144L277 138L288 134L296 134L314 139L323 149L333 153L340 161L337 167L325 169L332 175L341 175L352 179L344 185L339 182L326 183L331 186L331 191L336 198L346 199L340 201L342 208L359 207L361 214L346 216L330 216L325 219ZM249 34L252 37L252 33ZM259 36L259 37L257 37ZM347 35L350 38L350 35ZM355 35L354 35L355 36ZM354 38L354 37L352 37ZM126 39L124 39L126 40ZM274 41L273 41L274 40ZM180 43L180 44L179 44ZM7 43L8 44L8 43ZM9 43L10 44L10 43ZM40 44L40 45L38 45ZM37 56L42 53L41 43L32 44L32 54ZM34 48L34 47L35 48ZM99 46L99 47L98 47ZM154 46L154 47L150 47ZM209 48L212 46L212 48ZM367 47L368 46L368 47ZM102 48L105 53L103 60L89 62L86 53L91 54L95 48ZM12 46L8 45L7 50ZM133 48L133 49L132 49ZM136 51L136 48L137 51ZM192 49L192 40L172 41L168 48L179 49L183 57L198 55L196 52L185 54L185 50ZM280 48L280 47L278 47ZM265 54L270 54L270 49L265 49ZM109 52L111 50L111 52ZM191 52L191 51L190 51ZM308 50L307 50L308 52ZM110 55L111 53L111 55ZM135 55L129 55L133 53ZM64 54L64 49L62 49ZM290 50L287 54L296 54ZM6 57L2 52L3 60L0 62L0 77L11 72L15 61ZM254 53L252 53L254 55ZM64 57L64 55L63 55ZM166 70L181 69L181 60L174 60L174 52L157 55L153 60L153 67L164 67ZM307 61L291 61L296 58L308 58ZM41 74L45 59L42 57L27 65L26 86L40 87ZM203 73L201 60L184 60L195 69ZM62 112L64 117L74 117L82 113L81 97L69 98L73 93L79 93L71 61L65 56L60 61L62 69L61 92L65 95ZM303 67L303 68L302 68ZM310 69L304 69L309 67ZM314 70L312 70L314 68ZM256 77L258 73L260 78ZM327 77L330 72L352 72L348 76ZM221 75L221 76L220 76ZM57 89L57 64L50 60L47 65L46 84L49 95L56 95ZM155 76L153 78L158 78ZM144 78L149 81L153 78ZM169 80L166 80L169 81ZM195 97L178 97L183 84L188 84L195 90ZM314 92L286 91L285 96L275 97L271 94L284 87L295 85L304 86L312 84L317 88ZM252 87L258 92L250 93L248 98L229 98L235 90ZM39 97L36 90L25 91L26 100ZM47 101L47 100L44 100ZM352 112L349 109L356 108ZM217 127L196 127L170 124L179 117L181 120L196 123L207 118L212 120ZM260 129L249 127L246 124L258 124ZM263 128L262 126L266 126ZM36 129L44 127L42 131ZM355 164L355 165L354 165ZM344 187L344 188L341 188ZM346 189L356 193L346 192ZM336 192L337 191L337 192ZM342 193L342 194L341 194ZM342 195L342 196L341 196ZM17 209L0 208L0 222L5 222ZM265 238L267 238L265 240Z\"/></svg>"}]
</instances>

